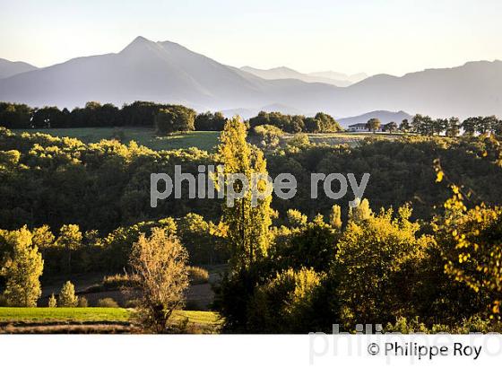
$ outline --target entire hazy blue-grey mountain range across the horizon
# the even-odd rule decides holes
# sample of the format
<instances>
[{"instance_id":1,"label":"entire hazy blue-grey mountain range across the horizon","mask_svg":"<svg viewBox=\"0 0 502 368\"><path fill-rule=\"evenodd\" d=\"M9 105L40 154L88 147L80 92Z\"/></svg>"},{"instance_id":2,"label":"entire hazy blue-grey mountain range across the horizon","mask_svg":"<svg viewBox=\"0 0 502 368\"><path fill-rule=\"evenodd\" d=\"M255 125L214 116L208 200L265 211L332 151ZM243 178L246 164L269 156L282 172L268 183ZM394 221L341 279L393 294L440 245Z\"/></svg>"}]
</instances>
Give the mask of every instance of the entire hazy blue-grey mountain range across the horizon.
<instances>
[{"instance_id":1,"label":"entire hazy blue-grey mountain range across the horizon","mask_svg":"<svg viewBox=\"0 0 502 368\"><path fill-rule=\"evenodd\" d=\"M281 107L308 115L325 111L336 117L375 110L405 110L432 117L502 116L499 60L403 76L377 74L341 87L333 82L339 74L298 75L278 68L265 71L275 75L269 79L258 76L263 72L256 72L259 69L226 66L174 42L138 37L118 53L77 57L39 69L16 67L27 69L15 74L9 63L0 67L0 73L6 75L0 79L0 101L71 109L86 101L122 105L142 100L181 103L199 111ZM276 72L284 77L276 78ZM321 83L316 78L332 82Z\"/></svg>"}]
</instances>

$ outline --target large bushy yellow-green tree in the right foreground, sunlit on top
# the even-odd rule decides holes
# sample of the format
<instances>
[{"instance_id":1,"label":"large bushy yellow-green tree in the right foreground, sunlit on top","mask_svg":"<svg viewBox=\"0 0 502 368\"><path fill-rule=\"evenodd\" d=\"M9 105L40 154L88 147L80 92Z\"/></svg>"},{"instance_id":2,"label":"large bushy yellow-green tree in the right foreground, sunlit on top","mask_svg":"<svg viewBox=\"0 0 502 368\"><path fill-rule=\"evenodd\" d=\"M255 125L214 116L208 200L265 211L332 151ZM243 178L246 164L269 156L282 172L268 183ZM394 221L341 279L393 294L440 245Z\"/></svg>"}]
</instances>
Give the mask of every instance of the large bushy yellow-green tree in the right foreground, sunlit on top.
<instances>
[{"instance_id":1,"label":"large bushy yellow-green tree in the right foreground, sunlit on top","mask_svg":"<svg viewBox=\"0 0 502 368\"><path fill-rule=\"evenodd\" d=\"M346 328L415 316L410 280L433 240L416 236L420 226L410 222L410 215L410 208L402 207L397 216L388 210L370 215L364 223L348 223L334 263Z\"/></svg>"}]
</instances>

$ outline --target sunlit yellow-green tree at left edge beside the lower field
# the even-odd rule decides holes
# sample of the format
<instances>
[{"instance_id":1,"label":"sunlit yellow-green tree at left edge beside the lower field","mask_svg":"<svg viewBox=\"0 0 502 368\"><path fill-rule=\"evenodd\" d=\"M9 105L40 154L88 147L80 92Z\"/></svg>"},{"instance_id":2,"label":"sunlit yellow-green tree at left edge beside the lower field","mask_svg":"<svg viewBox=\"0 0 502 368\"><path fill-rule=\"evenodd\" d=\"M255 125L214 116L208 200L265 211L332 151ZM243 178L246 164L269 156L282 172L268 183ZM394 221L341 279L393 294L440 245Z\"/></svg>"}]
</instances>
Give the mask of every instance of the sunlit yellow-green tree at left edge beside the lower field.
<instances>
[{"instance_id":1,"label":"sunlit yellow-green tree at left edge beside the lower field","mask_svg":"<svg viewBox=\"0 0 502 368\"><path fill-rule=\"evenodd\" d=\"M42 290L39 277L44 261L37 246L32 245L31 232L22 227L13 232L4 232L3 241L10 249L2 274L6 279L4 296L12 306L36 307Z\"/></svg>"}]
</instances>

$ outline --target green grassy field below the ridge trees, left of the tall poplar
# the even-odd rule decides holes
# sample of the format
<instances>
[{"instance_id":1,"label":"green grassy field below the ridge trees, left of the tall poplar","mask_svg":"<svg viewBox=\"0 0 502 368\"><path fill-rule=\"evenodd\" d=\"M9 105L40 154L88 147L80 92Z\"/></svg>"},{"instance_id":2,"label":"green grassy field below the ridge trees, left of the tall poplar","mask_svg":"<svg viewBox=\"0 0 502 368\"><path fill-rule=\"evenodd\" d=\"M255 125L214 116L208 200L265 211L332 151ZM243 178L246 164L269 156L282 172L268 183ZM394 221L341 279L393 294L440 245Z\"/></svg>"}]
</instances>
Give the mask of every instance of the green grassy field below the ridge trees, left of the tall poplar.
<instances>
[{"instance_id":1,"label":"green grassy field below the ridge trees, left of the tall poplar","mask_svg":"<svg viewBox=\"0 0 502 368\"><path fill-rule=\"evenodd\" d=\"M51 136L69 136L83 143L100 142L101 139L119 139L123 143L135 141L153 150L173 150L196 147L211 151L219 143L220 132L188 132L172 136L156 136L153 129L145 127L74 127L54 129L14 129L16 133L45 133Z\"/></svg>"}]
</instances>

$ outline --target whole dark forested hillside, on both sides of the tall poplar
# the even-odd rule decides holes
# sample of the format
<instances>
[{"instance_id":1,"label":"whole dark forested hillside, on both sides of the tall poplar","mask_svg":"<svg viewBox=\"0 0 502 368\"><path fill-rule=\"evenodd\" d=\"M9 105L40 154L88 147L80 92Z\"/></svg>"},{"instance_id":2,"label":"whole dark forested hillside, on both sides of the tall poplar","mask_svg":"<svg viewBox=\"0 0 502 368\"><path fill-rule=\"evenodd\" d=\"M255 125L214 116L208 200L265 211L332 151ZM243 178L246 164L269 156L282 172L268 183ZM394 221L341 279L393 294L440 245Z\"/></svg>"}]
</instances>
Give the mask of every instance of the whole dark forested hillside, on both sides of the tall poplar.
<instances>
[{"instance_id":1,"label":"whole dark forested hillside, on both sides of the tall poplar","mask_svg":"<svg viewBox=\"0 0 502 368\"><path fill-rule=\"evenodd\" d=\"M502 168L498 145L490 138L403 137L394 141L367 141L349 147L311 145L291 140L267 153L267 167L274 177L290 172L298 180L296 197L273 199L281 217L288 208L314 216L327 214L333 201L311 200L310 173L353 172L371 177L365 197L374 208L410 203L415 218L429 219L450 195L435 183L433 162L440 159L451 179L472 189L476 203L498 204L502 198ZM0 223L5 229L23 224L48 224L58 229L77 223L83 229L103 232L121 224L136 223L190 212L218 219L217 200L169 198L150 206L151 172L196 172L197 165L214 157L197 149L155 152L130 143L101 141L83 144L74 138L42 134L13 134L0 130ZM184 188L185 190L186 188ZM350 198L352 199L352 198ZM338 201L344 211L349 199Z\"/></svg>"}]
</instances>

